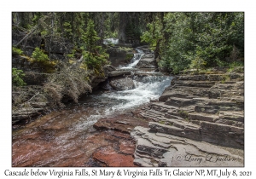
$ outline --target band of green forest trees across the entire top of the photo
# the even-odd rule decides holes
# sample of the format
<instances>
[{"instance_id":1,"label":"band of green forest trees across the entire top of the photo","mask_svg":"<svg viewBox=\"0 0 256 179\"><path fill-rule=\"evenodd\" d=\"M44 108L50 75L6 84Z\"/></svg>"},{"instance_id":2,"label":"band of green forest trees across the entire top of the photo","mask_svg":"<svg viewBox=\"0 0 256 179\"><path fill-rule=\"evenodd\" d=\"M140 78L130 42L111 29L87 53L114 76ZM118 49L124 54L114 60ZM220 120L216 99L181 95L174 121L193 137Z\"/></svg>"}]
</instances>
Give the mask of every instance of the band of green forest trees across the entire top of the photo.
<instances>
[{"instance_id":1,"label":"band of green forest trees across the entire top of the photo","mask_svg":"<svg viewBox=\"0 0 256 179\"><path fill-rule=\"evenodd\" d=\"M83 51L84 66L101 68L107 55L103 38L122 38L148 43L159 66L177 73L191 66L228 66L244 57L244 13L242 12L13 12L13 29L34 29L55 42L70 43ZM93 21L96 23L94 25ZM15 28L14 28L15 27ZM125 35L124 35L125 33ZM33 33L34 35L36 33ZM100 40L101 38L101 40ZM125 37L123 37L125 40ZM48 44L49 45L49 44ZM15 50L13 50L15 51ZM21 52L13 52L18 55ZM47 57L42 53L37 57ZM41 55L40 55L41 54ZM41 58L42 57L42 58ZM76 56L71 53L69 58ZM197 59L198 58L198 59ZM198 60L206 62L200 65ZM106 60L106 61L105 61ZM100 69L98 69L99 71Z\"/></svg>"}]
</instances>

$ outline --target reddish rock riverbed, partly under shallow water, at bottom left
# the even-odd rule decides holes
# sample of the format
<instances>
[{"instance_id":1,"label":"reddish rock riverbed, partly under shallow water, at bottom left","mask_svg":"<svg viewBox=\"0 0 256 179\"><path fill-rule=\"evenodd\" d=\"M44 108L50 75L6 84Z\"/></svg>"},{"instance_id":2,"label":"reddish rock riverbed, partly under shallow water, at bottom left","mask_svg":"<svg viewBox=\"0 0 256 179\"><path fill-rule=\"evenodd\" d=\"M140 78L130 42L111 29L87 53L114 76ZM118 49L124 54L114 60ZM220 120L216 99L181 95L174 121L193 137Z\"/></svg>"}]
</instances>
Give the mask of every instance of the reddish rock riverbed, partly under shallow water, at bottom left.
<instances>
[{"instance_id":1,"label":"reddish rock riverbed, partly under shallow water, at bottom left","mask_svg":"<svg viewBox=\"0 0 256 179\"><path fill-rule=\"evenodd\" d=\"M72 113L72 109L52 112L15 130L12 165L135 166L130 131L137 125L146 127L148 122L123 114L98 120L95 130L79 125L84 113Z\"/></svg>"}]
</instances>

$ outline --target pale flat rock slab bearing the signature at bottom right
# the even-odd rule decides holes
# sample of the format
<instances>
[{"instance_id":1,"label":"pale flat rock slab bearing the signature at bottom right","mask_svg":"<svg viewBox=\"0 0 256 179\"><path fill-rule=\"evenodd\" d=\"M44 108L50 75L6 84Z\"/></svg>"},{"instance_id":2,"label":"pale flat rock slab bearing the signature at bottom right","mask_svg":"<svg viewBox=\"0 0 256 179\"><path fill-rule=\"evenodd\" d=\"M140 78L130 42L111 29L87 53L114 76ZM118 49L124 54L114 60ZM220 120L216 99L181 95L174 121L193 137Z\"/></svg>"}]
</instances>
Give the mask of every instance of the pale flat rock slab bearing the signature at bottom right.
<instances>
[{"instance_id":1,"label":"pale flat rock slab bearing the signature at bottom right","mask_svg":"<svg viewBox=\"0 0 256 179\"><path fill-rule=\"evenodd\" d=\"M136 127L134 164L139 166L243 166L243 151Z\"/></svg>"}]
</instances>

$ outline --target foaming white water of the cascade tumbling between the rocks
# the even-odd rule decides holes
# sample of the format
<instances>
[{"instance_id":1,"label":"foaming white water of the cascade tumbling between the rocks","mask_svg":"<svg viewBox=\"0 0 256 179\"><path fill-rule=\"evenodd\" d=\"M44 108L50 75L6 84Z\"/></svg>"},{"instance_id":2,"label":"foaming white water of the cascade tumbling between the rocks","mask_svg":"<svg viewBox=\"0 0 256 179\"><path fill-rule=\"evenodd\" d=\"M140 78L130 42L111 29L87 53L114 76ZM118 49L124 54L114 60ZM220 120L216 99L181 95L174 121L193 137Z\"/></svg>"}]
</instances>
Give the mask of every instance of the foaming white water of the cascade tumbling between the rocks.
<instances>
[{"instance_id":1,"label":"foaming white water of the cascade tumbling between the rocks","mask_svg":"<svg viewBox=\"0 0 256 179\"><path fill-rule=\"evenodd\" d=\"M119 66L120 69L133 69L137 62L144 55L143 50L137 49L137 53L126 66ZM139 74L143 75L139 75ZM138 75L137 75L138 74ZM166 76L160 72L143 72L137 71L132 76L135 89L133 90L110 90L102 95L92 95L96 101L104 101L104 111L102 115L111 115L113 113L123 113L139 107L150 100L158 99L163 91L171 84L172 76ZM85 102L86 103L86 102ZM95 118L101 117L99 113L93 115ZM91 117L90 117L91 118Z\"/></svg>"}]
</instances>

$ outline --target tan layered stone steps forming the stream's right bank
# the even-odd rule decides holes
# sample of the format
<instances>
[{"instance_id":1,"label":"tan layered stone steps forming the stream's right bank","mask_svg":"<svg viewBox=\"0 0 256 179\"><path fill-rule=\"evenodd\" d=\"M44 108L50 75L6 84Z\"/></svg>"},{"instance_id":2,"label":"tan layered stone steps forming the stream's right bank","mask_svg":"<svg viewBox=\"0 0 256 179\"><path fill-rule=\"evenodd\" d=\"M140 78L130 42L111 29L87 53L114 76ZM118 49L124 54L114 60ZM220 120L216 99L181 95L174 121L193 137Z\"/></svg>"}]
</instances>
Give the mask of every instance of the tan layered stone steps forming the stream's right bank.
<instances>
[{"instance_id":1,"label":"tan layered stone steps forming the stream's right bank","mask_svg":"<svg viewBox=\"0 0 256 179\"><path fill-rule=\"evenodd\" d=\"M139 166L243 166L242 72L183 74L137 116L131 131Z\"/></svg>"}]
</instances>

